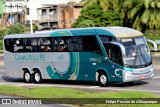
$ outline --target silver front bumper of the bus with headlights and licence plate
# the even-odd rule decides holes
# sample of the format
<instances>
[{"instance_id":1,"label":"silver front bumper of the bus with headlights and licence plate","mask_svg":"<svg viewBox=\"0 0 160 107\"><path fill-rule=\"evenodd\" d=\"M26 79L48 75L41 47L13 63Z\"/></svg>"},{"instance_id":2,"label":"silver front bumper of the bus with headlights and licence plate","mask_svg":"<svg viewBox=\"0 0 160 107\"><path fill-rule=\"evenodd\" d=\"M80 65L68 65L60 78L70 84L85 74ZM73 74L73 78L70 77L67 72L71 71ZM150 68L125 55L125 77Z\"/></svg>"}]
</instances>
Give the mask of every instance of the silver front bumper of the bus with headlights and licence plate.
<instances>
[{"instance_id":1,"label":"silver front bumper of the bus with headlights and licence plate","mask_svg":"<svg viewBox=\"0 0 160 107\"><path fill-rule=\"evenodd\" d=\"M135 69L134 72L123 70L123 82L145 80L153 78L153 66Z\"/></svg>"}]
</instances>

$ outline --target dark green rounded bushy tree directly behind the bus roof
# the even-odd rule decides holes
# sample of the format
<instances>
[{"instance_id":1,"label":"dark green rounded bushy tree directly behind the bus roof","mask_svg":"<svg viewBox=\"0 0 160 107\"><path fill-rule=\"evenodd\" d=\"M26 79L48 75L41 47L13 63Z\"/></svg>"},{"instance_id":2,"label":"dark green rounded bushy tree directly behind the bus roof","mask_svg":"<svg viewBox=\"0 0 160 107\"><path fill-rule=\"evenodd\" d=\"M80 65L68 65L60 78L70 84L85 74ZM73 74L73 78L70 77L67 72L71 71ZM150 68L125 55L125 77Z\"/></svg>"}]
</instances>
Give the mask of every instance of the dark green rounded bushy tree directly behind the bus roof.
<instances>
[{"instance_id":1,"label":"dark green rounded bushy tree directly behind the bus roof","mask_svg":"<svg viewBox=\"0 0 160 107\"><path fill-rule=\"evenodd\" d=\"M102 10L99 4L93 3L81 11L81 16L72 27L121 26L122 18L118 12Z\"/></svg>"}]
</instances>

